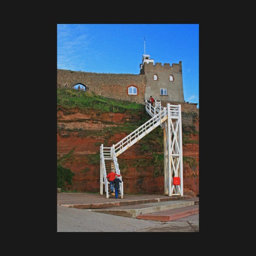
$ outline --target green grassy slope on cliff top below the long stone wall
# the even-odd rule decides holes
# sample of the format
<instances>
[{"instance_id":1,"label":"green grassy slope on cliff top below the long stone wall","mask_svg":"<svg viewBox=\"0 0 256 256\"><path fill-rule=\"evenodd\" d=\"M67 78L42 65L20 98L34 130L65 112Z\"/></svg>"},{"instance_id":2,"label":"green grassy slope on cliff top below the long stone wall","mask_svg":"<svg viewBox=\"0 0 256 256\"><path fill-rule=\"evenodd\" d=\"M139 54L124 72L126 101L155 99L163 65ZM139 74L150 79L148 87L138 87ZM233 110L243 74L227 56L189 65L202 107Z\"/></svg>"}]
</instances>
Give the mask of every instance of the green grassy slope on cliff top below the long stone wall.
<instances>
[{"instance_id":1,"label":"green grassy slope on cliff top below the long stone wall","mask_svg":"<svg viewBox=\"0 0 256 256\"><path fill-rule=\"evenodd\" d=\"M103 112L124 113L126 110L144 111L145 106L126 100L113 100L93 93L73 88L57 88L57 106L66 109L94 109Z\"/></svg>"}]
</instances>

